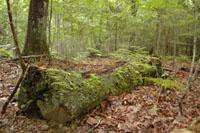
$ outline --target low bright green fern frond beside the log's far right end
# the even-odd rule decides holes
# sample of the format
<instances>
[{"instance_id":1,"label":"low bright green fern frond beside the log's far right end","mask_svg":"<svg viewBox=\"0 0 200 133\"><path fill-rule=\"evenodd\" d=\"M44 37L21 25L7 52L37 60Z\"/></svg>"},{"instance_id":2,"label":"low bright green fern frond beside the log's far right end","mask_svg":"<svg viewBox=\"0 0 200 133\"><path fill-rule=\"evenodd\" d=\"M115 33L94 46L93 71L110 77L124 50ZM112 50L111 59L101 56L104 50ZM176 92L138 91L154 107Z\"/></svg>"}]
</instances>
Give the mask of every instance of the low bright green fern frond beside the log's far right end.
<instances>
[{"instance_id":1,"label":"low bright green fern frond beside the log's far right end","mask_svg":"<svg viewBox=\"0 0 200 133\"><path fill-rule=\"evenodd\" d=\"M152 78L152 77L145 77L145 85L157 85L159 87L162 87L164 89L178 89L178 90L184 90L185 87L183 84L178 83L175 80L171 79L162 79L162 78Z\"/></svg>"}]
</instances>

